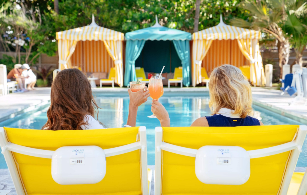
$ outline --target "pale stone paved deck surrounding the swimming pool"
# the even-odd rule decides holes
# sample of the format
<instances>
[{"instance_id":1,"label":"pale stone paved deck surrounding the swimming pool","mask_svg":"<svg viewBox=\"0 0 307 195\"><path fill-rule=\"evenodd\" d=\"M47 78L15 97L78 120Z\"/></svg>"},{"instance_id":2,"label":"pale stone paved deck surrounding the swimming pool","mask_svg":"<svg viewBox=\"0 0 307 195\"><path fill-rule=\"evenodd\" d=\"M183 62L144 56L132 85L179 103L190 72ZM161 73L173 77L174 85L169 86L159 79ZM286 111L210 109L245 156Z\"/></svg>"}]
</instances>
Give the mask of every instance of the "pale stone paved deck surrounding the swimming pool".
<instances>
[{"instance_id":1,"label":"pale stone paved deck surrounding the swimming pool","mask_svg":"<svg viewBox=\"0 0 307 195\"><path fill-rule=\"evenodd\" d=\"M94 88L96 92L126 92L127 88ZM208 88L164 88L164 92L208 92ZM286 117L307 124L307 106L304 101L289 103L293 97L288 94L280 95L281 91L265 88L252 88L253 103ZM0 122L13 118L18 114L31 111L50 102L50 88L37 88L36 91L25 93L11 93L0 96ZM154 166L149 166L154 170ZM296 167L295 172L305 172L306 167ZM8 169L0 169L0 190L9 189L9 195L16 195L13 181ZM152 177L153 192L153 177Z\"/></svg>"}]
</instances>

